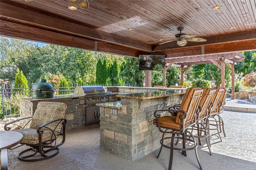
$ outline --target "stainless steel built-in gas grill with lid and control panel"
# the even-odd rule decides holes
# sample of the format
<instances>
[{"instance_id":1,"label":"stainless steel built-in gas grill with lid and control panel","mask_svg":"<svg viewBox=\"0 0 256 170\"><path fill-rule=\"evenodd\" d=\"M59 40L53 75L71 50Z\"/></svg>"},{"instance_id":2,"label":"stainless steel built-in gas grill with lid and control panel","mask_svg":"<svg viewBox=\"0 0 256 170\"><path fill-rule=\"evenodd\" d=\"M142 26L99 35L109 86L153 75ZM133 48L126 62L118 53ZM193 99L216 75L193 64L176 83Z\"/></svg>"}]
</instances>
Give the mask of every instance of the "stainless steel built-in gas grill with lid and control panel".
<instances>
[{"instance_id":1,"label":"stainless steel built-in gas grill with lid and control panel","mask_svg":"<svg viewBox=\"0 0 256 170\"><path fill-rule=\"evenodd\" d=\"M102 86L76 86L76 95L85 96L85 104L106 102L105 90Z\"/></svg>"}]
</instances>

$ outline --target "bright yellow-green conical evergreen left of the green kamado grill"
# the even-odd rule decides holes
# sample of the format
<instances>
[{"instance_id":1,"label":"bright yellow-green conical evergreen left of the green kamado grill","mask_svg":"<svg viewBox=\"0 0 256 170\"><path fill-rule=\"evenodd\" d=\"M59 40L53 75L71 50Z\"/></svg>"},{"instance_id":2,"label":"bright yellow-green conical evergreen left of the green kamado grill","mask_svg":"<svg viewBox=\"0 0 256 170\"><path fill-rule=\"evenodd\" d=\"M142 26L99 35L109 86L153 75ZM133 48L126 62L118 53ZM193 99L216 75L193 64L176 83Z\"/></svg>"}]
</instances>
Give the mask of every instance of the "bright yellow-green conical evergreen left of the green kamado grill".
<instances>
[{"instance_id":1,"label":"bright yellow-green conical evergreen left of the green kamado grill","mask_svg":"<svg viewBox=\"0 0 256 170\"><path fill-rule=\"evenodd\" d=\"M15 74L15 81L14 81L14 87L15 89L12 89L12 91L29 91L28 89L28 81L26 77L23 75L22 71L20 69L17 69L16 74ZM18 88L18 89L16 89ZM24 89L20 89L24 88ZM28 93L24 93L25 95L28 95Z\"/></svg>"}]
</instances>

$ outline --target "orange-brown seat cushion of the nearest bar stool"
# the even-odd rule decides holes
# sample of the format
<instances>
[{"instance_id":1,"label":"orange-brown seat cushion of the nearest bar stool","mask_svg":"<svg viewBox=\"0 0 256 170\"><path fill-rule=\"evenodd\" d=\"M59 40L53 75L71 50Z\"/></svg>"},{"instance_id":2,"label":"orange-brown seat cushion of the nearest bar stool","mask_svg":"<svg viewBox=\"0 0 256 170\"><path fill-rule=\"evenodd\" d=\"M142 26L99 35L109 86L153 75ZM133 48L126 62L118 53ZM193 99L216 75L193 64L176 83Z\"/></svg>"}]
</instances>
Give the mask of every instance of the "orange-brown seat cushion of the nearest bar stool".
<instances>
[{"instance_id":1,"label":"orange-brown seat cushion of the nearest bar stool","mask_svg":"<svg viewBox=\"0 0 256 170\"><path fill-rule=\"evenodd\" d=\"M160 127L181 130L182 126L175 122L175 116L163 116L159 118ZM153 120L153 124L157 126L157 119Z\"/></svg>"}]
</instances>

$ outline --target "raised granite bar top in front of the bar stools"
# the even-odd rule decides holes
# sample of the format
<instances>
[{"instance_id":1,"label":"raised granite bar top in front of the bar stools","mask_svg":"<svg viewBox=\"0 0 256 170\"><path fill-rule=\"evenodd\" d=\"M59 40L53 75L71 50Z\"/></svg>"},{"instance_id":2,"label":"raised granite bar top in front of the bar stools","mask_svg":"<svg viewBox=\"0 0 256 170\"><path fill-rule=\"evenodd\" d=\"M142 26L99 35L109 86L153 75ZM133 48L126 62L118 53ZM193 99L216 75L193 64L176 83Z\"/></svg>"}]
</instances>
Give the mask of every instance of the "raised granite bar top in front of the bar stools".
<instances>
[{"instance_id":1,"label":"raised granite bar top in front of the bar stools","mask_svg":"<svg viewBox=\"0 0 256 170\"><path fill-rule=\"evenodd\" d=\"M173 95L183 95L185 93L186 93L186 89L176 89L176 90L168 90L168 91L122 94L122 95L116 95L116 97L133 98L133 99L154 99L154 98L168 97Z\"/></svg>"}]
</instances>

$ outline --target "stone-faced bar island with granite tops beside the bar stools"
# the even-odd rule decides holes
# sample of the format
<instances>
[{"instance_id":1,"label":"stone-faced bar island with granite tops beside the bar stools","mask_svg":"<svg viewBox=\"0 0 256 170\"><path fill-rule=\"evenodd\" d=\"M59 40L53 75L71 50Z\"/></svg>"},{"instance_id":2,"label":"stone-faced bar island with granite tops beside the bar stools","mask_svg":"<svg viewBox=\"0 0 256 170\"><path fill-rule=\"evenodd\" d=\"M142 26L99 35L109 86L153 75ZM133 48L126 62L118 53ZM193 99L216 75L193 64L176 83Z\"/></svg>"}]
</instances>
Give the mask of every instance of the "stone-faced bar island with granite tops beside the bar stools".
<instances>
[{"instance_id":1,"label":"stone-faced bar island with granite tops beside the bar stools","mask_svg":"<svg viewBox=\"0 0 256 170\"><path fill-rule=\"evenodd\" d=\"M100 106L100 148L134 161L160 147L154 111L180 104L186 90L117 95L121 101ZM166 113L167 114L167 113Z\"/></svg>"}]
</instances>

